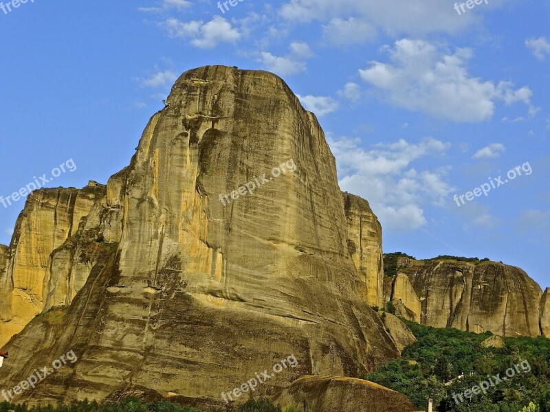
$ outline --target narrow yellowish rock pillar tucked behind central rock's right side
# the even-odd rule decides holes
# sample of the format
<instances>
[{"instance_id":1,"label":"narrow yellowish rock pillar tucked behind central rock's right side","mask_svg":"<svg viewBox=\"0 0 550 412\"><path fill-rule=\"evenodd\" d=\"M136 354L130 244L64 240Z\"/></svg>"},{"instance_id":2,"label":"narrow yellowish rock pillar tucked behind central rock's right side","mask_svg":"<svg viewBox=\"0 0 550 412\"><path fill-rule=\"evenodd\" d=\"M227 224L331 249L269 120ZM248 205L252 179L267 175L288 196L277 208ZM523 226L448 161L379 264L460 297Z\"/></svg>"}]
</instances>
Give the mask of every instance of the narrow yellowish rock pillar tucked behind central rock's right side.
<instances>
[{"instance_id":1,"label":"narrow yellowish rock pillar tucked behind central rock's right side","mask_svg":"<svg viewBox=\"0 0 550 412\"><path fill-rule=\"evenodd\" d=\"M382 225L369 203L359 196L344 193L349 254L364 284L360 293L371 306L384 305L384 264L382 262Z\"/></svg>"}]
</instances>

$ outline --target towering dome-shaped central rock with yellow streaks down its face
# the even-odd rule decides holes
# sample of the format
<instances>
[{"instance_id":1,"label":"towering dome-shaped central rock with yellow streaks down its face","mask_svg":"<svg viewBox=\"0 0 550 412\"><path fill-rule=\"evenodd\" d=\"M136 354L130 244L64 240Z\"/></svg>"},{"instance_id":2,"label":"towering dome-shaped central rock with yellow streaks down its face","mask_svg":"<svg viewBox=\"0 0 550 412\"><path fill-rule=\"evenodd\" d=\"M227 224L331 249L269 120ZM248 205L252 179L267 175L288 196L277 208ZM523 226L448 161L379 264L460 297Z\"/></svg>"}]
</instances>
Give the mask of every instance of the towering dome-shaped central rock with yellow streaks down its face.
<instances>
[{"instance_id":1,"label":"towering dome-shaped central rock with yellow streaks down its face","mask_svg":"<svg viewBox=\"0 0 550 412\"><path fill-rule=\"evenodd\" d=\"M256 179L252 193L238 192ZM399 355L369 308L381 245L367 233L379 227L366 202L356 198L348 216L343 203L322 130L283 80L227 67L184 73L129 167L82 207L78 233L51 228L58 238L43 258L54 251L50 268L34 276L30 313L72 304L5 346L0 385L69 350L78 361L19 400L147 392L212 404L289 354L298 367L256 393L304 374L373 370ZM350 253L350 238L362 253Z\"/></svg>"}]
</instances>

